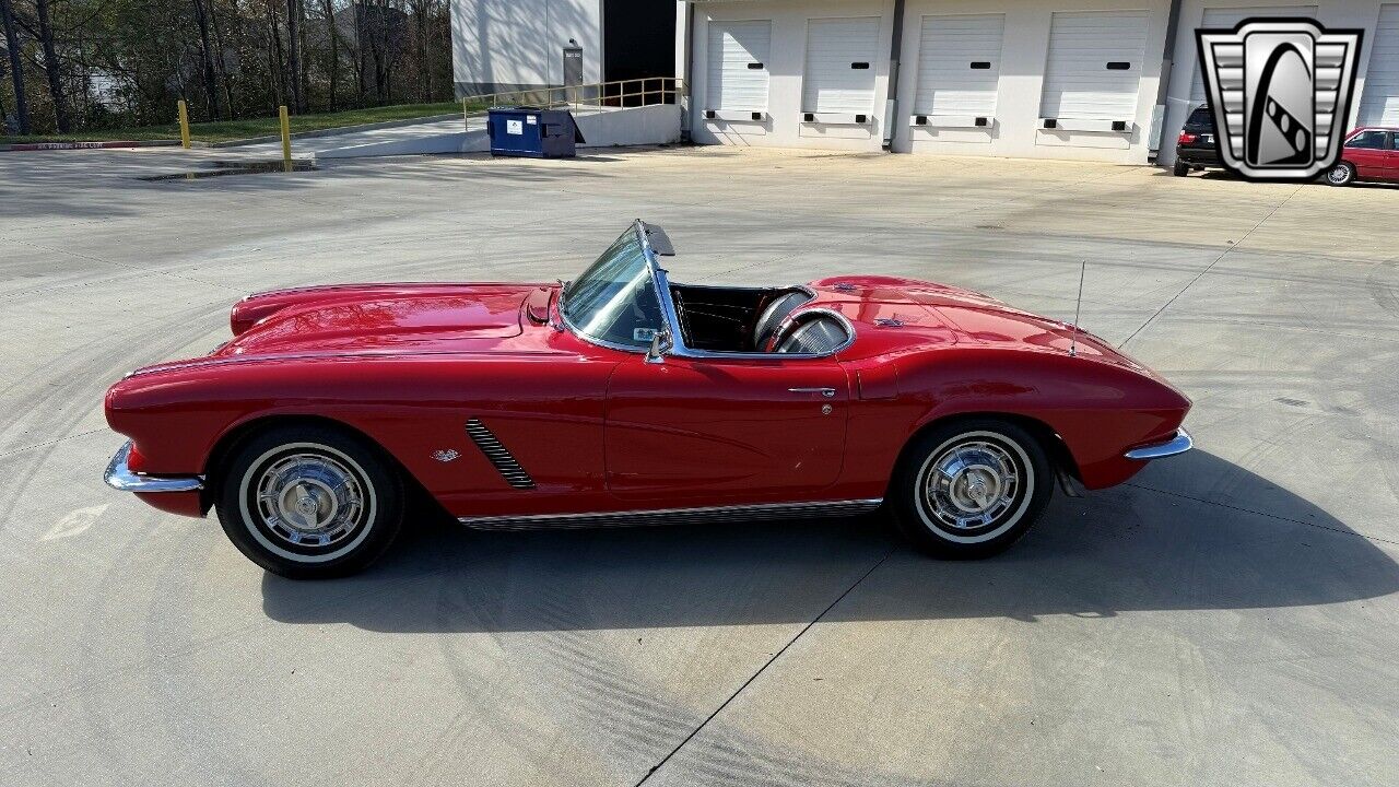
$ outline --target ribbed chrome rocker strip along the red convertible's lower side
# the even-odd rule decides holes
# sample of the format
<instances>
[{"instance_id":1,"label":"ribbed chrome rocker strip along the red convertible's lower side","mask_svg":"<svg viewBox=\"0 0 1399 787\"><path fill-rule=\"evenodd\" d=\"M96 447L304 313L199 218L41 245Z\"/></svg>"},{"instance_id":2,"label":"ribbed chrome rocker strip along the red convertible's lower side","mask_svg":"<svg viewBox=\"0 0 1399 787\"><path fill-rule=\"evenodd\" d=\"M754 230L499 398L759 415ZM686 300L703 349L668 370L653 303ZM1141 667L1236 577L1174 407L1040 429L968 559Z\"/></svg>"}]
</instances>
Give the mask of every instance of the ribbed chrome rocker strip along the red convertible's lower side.
<instances>
[{"instance_id":1,"label":"ribbed chrome rocker strip along the red convertible's lower side","mask_svg":"<svg viewBox=\"0 0 1399 787\"><path fill-rule=\"evenodd\" d=\"M754 506L711 506L705 508L659 508L649 511L607 511L593 514L527 514L506 517L460 517L469 528L529 531L540 528L607 528L680 525L693 522L747 522L795 517L846 517L879 508L883 497L830 500L821 503L762 503Z\"/></svg>"}]
</instances>

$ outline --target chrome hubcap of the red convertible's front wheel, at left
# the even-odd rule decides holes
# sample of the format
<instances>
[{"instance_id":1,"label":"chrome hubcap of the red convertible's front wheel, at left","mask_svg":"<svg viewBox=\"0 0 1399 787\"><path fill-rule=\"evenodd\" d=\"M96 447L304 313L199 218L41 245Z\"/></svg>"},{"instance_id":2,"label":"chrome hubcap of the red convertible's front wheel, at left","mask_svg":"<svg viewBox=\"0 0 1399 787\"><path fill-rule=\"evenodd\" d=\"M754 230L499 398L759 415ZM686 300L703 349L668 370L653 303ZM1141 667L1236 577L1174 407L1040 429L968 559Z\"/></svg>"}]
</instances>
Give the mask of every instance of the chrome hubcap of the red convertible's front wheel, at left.
<instances>
[{"instance_id":1,"label":"chrome hubcap of the red convertible's front wheel, at left","mask_svg":"<svg viewBox=\"0 0 1399 787\"><path fill-rule=\"evenodd\" d=\"M295 546L330 546L364 520L364 487L350 469L320 454L291 454L257 479L257 510L267 529Z\"/></svg>"}]
</instances>

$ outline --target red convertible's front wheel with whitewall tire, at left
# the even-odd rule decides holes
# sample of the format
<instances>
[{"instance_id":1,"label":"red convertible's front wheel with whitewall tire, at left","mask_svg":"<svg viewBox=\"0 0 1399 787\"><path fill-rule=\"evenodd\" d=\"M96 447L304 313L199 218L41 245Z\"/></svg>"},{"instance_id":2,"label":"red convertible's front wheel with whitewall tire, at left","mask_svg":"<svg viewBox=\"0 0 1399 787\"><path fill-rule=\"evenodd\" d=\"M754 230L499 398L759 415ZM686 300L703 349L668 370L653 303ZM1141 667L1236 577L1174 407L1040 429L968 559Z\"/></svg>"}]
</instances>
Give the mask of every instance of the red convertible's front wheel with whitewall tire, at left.
<instances>
[{"instance_id":1,"label":"red convertible's front wheel with whitewall tire, at left","mask_svg":"<svg viewBox=\"0 0 1399 787\"><path fill-rule=\"evenodd\" d=\"M234 452L215 507L228 539L263 569L294 580L343 577L393 543L403 482L362 438L292 426Z\"/></svg>"}]
</instances>

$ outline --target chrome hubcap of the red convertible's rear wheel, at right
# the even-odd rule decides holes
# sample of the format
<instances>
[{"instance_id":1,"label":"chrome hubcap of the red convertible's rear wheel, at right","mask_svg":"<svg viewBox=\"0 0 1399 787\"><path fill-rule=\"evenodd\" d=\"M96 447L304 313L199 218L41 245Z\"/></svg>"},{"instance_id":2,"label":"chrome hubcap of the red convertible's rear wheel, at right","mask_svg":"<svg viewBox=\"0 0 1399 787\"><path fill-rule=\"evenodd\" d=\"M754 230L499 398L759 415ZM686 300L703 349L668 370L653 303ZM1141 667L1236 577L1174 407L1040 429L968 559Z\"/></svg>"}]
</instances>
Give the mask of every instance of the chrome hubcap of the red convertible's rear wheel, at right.
<instances>
[{"instance_id":1,"label":"chrome hubcap of the red convertible's rear wheel, at right","mask_svg":"<svg viewBox=\"0 0 1399 787\"><path fill-rule=\"evenodd\" d=\"M923 482L923 501L942 524L970 531L995 522L1018 490L1020 472L1010 452L995 443L968 440L933 459Z\"/></svg>"}]
</instances>

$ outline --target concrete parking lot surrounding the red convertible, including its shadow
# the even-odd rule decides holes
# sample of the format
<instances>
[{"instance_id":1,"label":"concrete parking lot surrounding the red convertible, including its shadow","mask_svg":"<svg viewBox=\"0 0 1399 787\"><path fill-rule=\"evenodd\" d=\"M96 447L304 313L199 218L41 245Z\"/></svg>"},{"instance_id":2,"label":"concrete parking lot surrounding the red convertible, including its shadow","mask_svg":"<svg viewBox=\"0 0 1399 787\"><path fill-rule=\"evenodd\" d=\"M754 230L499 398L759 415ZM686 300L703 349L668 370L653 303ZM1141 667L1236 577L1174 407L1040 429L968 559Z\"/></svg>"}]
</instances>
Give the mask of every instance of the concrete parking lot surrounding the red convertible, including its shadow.
<instances>
[{"instance_id":1,"label":"concrete parking lot surrounding the red convertible, including its shadow","mask_svg":"<svg viewBox=\"0 0 1399 787\"><path fill-rule=\"evenodd\" d=\"M1399 188L741 148L145 182L0 154L3 784L1393 784ZM481 534L332 583L102 485L106 386L263 288L888 273L1121 343L1198 450L989 562L879 522Z\"/></svg>"}]
</instances>

